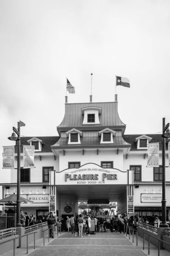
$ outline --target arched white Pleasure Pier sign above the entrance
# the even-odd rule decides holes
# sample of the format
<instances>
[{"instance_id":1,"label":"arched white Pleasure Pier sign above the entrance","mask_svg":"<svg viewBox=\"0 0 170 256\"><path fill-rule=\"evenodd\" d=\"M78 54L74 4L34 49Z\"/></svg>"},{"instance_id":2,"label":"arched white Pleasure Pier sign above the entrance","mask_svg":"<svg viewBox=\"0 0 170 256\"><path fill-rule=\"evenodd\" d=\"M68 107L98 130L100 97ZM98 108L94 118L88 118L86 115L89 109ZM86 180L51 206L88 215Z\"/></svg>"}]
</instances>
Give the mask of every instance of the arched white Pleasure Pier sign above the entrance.
<instances>
[{"instance_id":1,"label":"arched white Pleasure Pier sign above the entrance","mask_svg":"<svg viewBox=\"0 0 170 256\"><path fill-rule=\"evenodd\" d=\"M127 181L129 172L129 181ZM56 185L80 185L80 184L132 184L133 171L125 172L115 169L104 169L95 163L87 163L79 168L65 169L56 173Z\"/></svg>"}]
</instances>

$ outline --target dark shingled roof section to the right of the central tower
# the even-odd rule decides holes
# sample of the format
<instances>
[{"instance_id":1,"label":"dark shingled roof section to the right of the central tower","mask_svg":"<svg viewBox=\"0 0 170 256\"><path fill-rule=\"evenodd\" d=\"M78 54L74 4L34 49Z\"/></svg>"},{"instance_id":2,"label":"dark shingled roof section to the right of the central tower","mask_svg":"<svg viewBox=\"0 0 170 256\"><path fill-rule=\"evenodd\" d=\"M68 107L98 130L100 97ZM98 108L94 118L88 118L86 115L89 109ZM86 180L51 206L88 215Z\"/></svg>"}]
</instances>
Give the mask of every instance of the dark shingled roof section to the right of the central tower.
<instances>
[{"instance_id":1,"label":"dark shingled roof section to the right of the central tower","mask_svg":"<svg viewBox=\"0 0 170 256\"><path fill-rule=\"evenodd\" d=\"M130 151L135 151L137 150L137 143L135 143L135 139L142 135L147 135L151 137L152 140L150 141L150 143L159 142L159 150L162 150L162 137L161 137L162 134L130 134L130 135L125 134L122 137L127 143L130 143L132 145ZM168 148L168 143L166 143L166 150L167 148ZM140 149L140 150L146 150L146 149Z\"/></svg>"}]
</instances>

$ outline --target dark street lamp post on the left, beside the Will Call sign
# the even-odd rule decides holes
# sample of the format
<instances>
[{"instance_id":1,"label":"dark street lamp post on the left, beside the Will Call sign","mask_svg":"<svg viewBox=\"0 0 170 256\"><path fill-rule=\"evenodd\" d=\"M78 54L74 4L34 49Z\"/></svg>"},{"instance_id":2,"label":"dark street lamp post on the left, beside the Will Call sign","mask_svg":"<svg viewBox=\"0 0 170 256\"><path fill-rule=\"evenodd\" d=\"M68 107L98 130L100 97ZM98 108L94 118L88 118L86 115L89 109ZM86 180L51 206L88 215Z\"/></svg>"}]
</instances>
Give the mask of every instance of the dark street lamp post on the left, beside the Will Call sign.
<instances>
[{"instance_id":1,"label":"dark street lamp post on the left, beside the Will Call sign","mask_svg":"<svg viewBox=\"0 0 170 256\"><path fill-rule=\"evenodd\" d=\"M18 122L18 129L13 127L13 131L8 140L17 141L17 227L23 227L20 223L20 122Z\"/></svg>"}]
</instances>

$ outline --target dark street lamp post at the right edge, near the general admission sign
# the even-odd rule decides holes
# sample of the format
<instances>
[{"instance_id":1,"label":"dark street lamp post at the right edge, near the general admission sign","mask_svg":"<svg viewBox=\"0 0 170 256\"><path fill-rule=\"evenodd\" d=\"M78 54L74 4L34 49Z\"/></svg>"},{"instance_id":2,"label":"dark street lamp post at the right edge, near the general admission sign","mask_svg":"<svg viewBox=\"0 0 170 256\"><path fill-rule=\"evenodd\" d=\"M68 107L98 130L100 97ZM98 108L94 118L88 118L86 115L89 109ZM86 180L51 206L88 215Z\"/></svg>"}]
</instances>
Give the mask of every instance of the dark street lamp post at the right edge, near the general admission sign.
<instances>
[{"instance_id":1,"label":"dark street lamp post at the right edge, near the general admission sign","mask_svg":"<svg viewBox=\"0 0 170 256\"><path fill-rule=\"evenodd\" d=\"M166 221L166 199L165 199L165 192L166 192L166 188L165 188L165 138L169 138L170 137L170 130L168 129L168 127L170 126L170 123L167 123L167 125L165 125L165 118L162 119L162 222L160 224L159 227L169 227L167 225L167 221Z\"/></svg>"}]
</instances>

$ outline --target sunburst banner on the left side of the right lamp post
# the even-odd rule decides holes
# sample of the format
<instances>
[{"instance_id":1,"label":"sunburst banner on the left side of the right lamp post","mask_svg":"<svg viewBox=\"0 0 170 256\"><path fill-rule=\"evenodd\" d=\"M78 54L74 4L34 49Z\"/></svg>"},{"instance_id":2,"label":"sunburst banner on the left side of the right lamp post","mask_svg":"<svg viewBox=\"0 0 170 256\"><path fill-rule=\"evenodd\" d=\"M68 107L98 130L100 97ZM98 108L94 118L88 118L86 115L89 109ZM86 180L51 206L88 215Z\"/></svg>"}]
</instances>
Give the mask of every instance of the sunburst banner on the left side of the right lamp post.
<instances>
[{"instance_id":1,"label":"sunburst banner on the left side of the right lamp post","mask_svg":"<svg viewBox=\"0 0 170 256\"><path fill-rule=\"evenodd\" d=\"M159 143L147 144L147 166L158 167L159 166Z\"/></svg>"}]
</instances>

